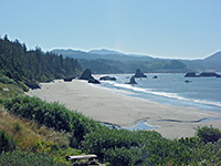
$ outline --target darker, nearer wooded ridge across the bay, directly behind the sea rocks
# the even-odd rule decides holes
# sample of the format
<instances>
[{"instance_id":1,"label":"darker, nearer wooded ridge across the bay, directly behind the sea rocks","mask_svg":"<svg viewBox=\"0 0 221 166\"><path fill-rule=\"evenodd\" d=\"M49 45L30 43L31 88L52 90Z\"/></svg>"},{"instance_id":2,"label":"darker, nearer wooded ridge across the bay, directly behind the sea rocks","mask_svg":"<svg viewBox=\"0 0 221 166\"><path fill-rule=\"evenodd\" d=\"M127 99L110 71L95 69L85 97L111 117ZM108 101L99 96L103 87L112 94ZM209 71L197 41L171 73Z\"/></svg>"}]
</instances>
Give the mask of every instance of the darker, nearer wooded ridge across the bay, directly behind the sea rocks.
<instances>
[{"instance_id":1,"label":"darker, nearer wooded ridge across the bay, directly behind the sea rocks","mask_svg":"<svg viewBox=\"0 0 221 166\"><path fill-rule=\"evenodd\" d=\"M135 73L140 69L145 73L182 73L187 66L177 60L116 61L116 60L78 60L82 69L91 69L95 74Z\"/></svg>"}]
</instances>

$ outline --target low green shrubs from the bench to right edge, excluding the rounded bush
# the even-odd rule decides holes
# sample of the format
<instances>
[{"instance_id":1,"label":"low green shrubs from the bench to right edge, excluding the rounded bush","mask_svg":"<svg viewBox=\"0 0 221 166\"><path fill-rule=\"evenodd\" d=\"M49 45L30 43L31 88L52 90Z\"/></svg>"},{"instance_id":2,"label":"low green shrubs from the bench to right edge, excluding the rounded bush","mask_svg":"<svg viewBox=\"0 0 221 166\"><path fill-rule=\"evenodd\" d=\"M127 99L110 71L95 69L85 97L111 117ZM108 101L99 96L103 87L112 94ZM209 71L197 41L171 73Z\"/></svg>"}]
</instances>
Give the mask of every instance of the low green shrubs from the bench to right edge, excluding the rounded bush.
<instances>
[{"instance_id":1,"label":"low green shrubs from the bench to right edge, excluding the rounded bush","mask_svg":"<svg viewBox=\"0 0 221 166\"><path fill-rule=\"evenodd\" d=\"M113 166L213 165L221 159L221 139L214 143L204 143L199 137L170 141L150 131L97 129L86 134L83 147Z\"/></svg>"}]
</instances>

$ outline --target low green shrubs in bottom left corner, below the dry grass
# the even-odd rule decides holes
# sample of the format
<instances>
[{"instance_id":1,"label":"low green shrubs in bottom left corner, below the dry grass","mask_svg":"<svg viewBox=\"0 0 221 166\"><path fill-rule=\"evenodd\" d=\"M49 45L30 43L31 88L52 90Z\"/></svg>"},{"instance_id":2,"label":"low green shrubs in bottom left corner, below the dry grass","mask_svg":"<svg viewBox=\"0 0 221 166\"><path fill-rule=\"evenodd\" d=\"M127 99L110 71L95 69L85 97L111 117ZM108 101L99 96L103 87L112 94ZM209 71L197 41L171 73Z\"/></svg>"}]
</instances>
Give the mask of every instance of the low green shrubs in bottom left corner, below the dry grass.
<instances>
[{"instance_id":1,"label":"low green shrubs in bottom left corner, below the dry grass","mask_svg":"<svg viewBox=\"0 0 221 166\"><path fill-rule=\"evenodd\" d=\"M0 166L65 166L65 164L59 164L44 154L14 151L0 155Z\"/></svg>"}]
</instances>

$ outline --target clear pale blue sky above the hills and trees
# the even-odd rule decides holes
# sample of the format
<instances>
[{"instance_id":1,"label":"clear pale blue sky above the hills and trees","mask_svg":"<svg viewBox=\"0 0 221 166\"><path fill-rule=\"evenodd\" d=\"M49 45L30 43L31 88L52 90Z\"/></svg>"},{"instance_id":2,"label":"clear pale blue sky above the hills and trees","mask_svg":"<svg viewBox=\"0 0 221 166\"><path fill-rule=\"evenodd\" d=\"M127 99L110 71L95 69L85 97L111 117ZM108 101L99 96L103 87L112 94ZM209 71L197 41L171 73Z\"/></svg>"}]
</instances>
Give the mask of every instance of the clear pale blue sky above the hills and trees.
<instances>
[{"instance_id":1,"label":"clear pale blue sky above the hills and trees","mask_svg":"<svg viewBox=\"0 0 221 166\"><path fill-rule=\"evenodd\" d=\"M43 51L203 59L221 51L221 0L0 0L0 37Z\"/></svg>"}]
</instances>

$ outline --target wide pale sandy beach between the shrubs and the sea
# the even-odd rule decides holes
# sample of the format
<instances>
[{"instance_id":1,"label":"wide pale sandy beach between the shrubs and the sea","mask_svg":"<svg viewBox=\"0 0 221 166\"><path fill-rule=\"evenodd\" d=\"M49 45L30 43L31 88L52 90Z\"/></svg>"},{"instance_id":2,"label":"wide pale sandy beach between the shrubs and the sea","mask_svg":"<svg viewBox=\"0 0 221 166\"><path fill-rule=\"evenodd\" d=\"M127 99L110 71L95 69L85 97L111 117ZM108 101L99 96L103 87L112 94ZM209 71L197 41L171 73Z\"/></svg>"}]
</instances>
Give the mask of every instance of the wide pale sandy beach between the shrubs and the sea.
<instances>
[{"instance_id":1,"label":"wide pale sandy beach between the shrubs and the sea","mask_svg":"<svg viewBox=\"0 0 221 166\"><path fill-rule=\"evenodd\" d=\"M145 121L167 138L193 136L197 126L210 124L221 129L220 120L201 121L221 118L221 113L131 97L124 95L123 91L98 87L80 80L72 82L56 80L52 83L41 83L41 90L32 90L27 94L48 102L60 102L70 110L81 112L95 121L113 123L122 127Z\"/></svg>"}]
</instances>

